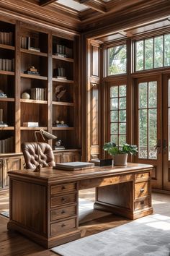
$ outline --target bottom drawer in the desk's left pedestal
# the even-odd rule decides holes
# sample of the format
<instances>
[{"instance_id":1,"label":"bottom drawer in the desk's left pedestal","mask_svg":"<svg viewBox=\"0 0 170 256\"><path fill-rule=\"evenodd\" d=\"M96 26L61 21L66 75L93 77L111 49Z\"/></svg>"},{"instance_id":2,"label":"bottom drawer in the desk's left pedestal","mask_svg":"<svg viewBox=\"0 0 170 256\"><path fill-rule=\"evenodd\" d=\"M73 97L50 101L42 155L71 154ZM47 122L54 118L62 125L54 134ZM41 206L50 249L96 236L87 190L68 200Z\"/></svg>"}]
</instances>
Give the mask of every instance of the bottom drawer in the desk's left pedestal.
<instances>
[{"instance_id":1,"label":"bottom drawer in the desk's left pedestal","mask_svg":"<svg viewBox=\"0 0 170 256\"><path fill-rule=\"evenodd\" d=\"M67 221L60 221L50 225L50 235L58 235L65 233L66 231L73 231L76 229L76 218L71 218Z\"/></svg>"}]
</instances>

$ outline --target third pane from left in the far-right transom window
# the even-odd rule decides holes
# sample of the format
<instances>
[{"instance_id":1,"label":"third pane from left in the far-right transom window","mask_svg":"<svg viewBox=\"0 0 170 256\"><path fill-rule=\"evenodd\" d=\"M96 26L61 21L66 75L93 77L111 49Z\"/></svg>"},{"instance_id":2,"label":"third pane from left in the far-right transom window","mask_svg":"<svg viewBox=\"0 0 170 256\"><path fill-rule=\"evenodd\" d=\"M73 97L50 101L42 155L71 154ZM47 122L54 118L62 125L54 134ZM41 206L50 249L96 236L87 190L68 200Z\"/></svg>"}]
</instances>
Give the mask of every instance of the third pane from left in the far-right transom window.
<instances>
[{"instance_id":1,"label":"third pane from left in the far-right transom window","mask_svg":"<svg viewBox=\"0 0 170 256\"><path fill-rule=\"evenodd\" d=\"M154 67L163 67L163 35L155 38Z\"/></svg>"}]
</instances>

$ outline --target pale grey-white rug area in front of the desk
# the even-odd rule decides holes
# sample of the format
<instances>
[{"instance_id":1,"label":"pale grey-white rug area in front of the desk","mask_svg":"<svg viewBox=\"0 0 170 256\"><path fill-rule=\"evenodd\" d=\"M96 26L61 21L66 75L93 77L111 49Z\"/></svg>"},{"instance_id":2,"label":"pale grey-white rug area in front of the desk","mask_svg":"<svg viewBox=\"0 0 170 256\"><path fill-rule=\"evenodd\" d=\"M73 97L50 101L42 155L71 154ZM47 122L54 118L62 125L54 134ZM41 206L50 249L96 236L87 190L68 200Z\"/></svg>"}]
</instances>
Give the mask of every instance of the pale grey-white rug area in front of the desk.
<instances>
[{"instance_id":1,"label":"pale grey-white rug area in front of the desk","mask_svg":"<svg viewBox=\"0 0 170 256\"><path fill-rule=\"evenodd\" d=\"M62 256L169 256L170 217L146 216L52 250Z\"/></svg>"}]
</instances>

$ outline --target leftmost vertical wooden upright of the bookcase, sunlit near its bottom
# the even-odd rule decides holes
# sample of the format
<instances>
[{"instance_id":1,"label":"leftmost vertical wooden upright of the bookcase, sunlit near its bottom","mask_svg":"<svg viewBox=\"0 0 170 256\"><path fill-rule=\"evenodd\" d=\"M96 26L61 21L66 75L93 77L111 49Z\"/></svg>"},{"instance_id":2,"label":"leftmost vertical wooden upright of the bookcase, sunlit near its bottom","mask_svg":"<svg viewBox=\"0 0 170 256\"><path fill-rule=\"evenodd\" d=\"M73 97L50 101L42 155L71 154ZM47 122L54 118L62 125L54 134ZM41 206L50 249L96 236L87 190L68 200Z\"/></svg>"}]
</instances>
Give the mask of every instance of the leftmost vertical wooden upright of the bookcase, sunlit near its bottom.
<instances>
[{"instance_id":1,"label":"leftmost vertical wooden upright of the bookcase, sunlit near its bottom","mask_svg":"<svg viewBox=\"0 0 170 256\"><path fill-rule=\"evenodd\" d=\"M20 22L17 22L15 28L15 152L21 152L21 134L20 134L20 118L21 118L21 110L20 110Z\"/></svg>"}]
</instances>

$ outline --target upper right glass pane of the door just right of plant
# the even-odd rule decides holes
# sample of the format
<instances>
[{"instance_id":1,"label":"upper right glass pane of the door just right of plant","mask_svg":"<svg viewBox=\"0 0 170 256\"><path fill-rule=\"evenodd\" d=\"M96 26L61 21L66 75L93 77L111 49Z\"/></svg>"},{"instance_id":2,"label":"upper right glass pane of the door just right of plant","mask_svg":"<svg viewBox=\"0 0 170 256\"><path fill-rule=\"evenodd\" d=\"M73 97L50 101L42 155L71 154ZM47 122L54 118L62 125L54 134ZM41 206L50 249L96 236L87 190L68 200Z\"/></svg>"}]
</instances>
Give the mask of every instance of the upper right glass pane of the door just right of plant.
<instances>
[{"instance_id":1,"label":"upper right glass pane of the door just right of plant","mask_svg":"<svg viewBox=\"0 0 170 256\"><path fill-rule=\"evenodd\" d=\"M156 108L157 106L157 82L148 82L148 106Z\"/></svg>"}]
</instances>

